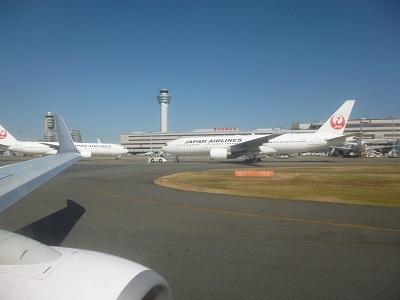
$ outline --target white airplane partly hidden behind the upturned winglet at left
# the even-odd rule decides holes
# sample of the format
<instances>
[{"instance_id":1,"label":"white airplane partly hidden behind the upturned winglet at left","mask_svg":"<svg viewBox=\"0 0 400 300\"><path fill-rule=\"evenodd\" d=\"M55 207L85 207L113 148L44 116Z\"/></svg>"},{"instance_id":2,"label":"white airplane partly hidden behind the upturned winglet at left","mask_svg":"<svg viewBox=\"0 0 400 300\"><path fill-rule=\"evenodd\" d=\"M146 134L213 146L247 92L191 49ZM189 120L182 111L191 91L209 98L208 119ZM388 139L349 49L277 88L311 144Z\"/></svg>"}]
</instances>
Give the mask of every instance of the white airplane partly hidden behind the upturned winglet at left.
<instances>
[{"instance_id":1,"label":"white airplane partly hidden behind the upturned winglet at left","mask_svg":"<svg viewBox=\"0 0 400 300\"><path fill-rule=\"evenodd\" d=\"M128 153L128 149L117 144L75 143L82 157L116 156L117 159ZM0 148L28 155L52 155L58 150L57 142L20 142L0 125Z\"/></svg>"}]
</instances>

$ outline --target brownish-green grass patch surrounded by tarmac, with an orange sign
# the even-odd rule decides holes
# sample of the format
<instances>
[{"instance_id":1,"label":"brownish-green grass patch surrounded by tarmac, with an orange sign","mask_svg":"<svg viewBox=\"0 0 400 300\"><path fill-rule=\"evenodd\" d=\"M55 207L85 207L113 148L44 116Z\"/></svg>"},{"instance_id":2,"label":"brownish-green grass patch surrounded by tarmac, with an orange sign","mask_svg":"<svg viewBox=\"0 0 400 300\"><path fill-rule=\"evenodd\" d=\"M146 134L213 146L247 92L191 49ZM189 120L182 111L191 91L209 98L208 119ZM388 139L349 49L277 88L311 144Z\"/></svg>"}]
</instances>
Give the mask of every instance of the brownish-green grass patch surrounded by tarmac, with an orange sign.
<instances>
[{"instance_id":1,"label":"brownish-green grass patch surrounded by tarmac, with an orange sign","mask_svg":"<svg viewBox=\"0 0 400 300\"><path fill-rule=\"evenodd\" d=\"M235 177L234 170L219 170L172 174L156 179L155 183L195 192L400 207L399 166L272 170L272 178Z\"/></svg>"}]
</instances>

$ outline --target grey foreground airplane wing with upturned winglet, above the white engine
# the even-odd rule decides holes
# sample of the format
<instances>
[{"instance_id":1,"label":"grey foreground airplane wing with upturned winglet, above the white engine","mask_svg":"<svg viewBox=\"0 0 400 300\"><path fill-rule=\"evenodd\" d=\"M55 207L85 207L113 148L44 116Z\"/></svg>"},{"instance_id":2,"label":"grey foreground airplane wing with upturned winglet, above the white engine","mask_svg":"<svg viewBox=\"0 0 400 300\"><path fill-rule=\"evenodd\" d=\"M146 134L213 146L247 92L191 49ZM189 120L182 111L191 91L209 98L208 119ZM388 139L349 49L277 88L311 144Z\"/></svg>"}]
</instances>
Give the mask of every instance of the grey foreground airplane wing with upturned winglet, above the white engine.
<instances>
[{"instance_id":1,"label":"grey foreground airplane wing with upturned winglet, above the white engine","mask_svg":"<svg viewBox=\"0 0 400 300\"><path fill-rule=\"evenodd\" d=\"M55 116L59 153L0 168L0 213L81 158L61 116Z\"/></svg>"}]
</instances>

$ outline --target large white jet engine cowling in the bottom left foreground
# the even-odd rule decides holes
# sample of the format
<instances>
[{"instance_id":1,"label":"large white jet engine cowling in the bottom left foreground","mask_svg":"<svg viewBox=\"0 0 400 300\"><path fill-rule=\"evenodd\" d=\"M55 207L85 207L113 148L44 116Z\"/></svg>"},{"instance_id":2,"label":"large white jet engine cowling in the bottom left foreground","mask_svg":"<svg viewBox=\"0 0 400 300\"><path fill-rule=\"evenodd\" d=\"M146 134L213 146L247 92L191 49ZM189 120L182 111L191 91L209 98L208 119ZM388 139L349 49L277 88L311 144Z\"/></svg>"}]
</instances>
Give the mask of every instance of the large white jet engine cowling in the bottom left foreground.
<instances>
[{"instance_id":1,"label":"large white jet engine cowling in the bottom left foreground","mask_svg":"<svg viewBox=\"0 0 400 300\"><path fill-rule=\"evenodd\" d=\"M0 230L1 299L172 299L153 270L104 253L49 247Z\"/></svg>"}]
</instances>

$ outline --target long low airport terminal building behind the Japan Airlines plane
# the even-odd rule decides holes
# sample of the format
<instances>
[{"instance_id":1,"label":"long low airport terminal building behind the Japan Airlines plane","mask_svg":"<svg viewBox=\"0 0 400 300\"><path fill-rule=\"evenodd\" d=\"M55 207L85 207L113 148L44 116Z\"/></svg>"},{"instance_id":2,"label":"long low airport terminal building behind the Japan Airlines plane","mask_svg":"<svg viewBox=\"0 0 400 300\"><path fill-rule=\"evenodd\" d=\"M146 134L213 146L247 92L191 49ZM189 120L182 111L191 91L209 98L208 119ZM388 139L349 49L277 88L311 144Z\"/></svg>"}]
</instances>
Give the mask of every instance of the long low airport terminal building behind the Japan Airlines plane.
<instances>
[{"instance_id":1,"label":"long low airport terminal building behind the Japan Airlines plane","mask_svg":"<svg viewBox=\"0 0 400 300\"><path fill-rule=\"evenodd\" d=\"M267 128L256 130L240 130L238 128L213 128L199 129L190 132L131 132L122 134L121 145L127 147L131 154L144 154L158 152L169 141L190 136L213 135L251 135L251 134L276 134L315 132L325 121L316 121L311 124L293 122L292 128ZM345 134L363 132L364 140L368 145L393 145L393 140L398 144L400 139L400 119L354 119L349 120Z\"/></svg>"}]
</instances>

